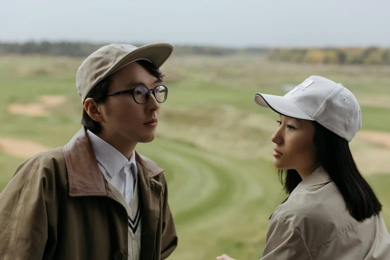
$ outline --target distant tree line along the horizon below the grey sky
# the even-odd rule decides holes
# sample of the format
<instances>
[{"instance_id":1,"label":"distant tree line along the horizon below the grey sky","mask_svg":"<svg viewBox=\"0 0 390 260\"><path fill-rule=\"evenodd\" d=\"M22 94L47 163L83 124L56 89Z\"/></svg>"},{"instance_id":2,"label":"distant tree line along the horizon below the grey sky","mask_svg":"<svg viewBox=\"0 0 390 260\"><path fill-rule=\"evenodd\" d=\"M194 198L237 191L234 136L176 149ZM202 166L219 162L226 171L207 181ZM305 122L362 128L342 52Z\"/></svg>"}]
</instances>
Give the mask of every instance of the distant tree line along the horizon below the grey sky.
<instances>
[{"instance_id":1,"label":"distant tree line along the horizon below the grey sky","mask_svg":"<svg viewBox=\"0 0 390 260\"><path fill-rule=\"evenodd\" d=\"M132 43L142 46L143 43ZM107 45L89 42L0 42L0 55L53 55L85 57ZM317 64L390 64L389 48L227 48L218 46L176 45L174 55L263 54L271 61Z\"/></svg>"}]
</instances>

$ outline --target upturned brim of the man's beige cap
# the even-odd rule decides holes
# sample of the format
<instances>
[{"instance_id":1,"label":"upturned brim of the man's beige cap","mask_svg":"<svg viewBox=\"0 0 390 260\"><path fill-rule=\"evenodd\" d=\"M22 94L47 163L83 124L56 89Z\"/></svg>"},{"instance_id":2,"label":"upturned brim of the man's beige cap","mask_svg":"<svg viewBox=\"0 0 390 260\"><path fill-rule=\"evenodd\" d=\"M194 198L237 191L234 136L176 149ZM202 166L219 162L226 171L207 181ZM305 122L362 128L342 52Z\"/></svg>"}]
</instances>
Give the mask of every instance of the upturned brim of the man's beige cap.
<instances>
[{"instance_id":1,"label":"upturned brim of the man's beige cap","mask_svg":"<svg viewBox=\"0 0 390 260\"><path fill-rule=\"evenodd\" d=\"M101 80L137 60L148 60L159 68L162 64L164 64L169 56L171 56L172 52L173 45L165 42L151 43L141 46L133 51L130 51L129 54L120 59L116 64L113 64L111 69L102 75Z\"/></svg>"}]
</instances>

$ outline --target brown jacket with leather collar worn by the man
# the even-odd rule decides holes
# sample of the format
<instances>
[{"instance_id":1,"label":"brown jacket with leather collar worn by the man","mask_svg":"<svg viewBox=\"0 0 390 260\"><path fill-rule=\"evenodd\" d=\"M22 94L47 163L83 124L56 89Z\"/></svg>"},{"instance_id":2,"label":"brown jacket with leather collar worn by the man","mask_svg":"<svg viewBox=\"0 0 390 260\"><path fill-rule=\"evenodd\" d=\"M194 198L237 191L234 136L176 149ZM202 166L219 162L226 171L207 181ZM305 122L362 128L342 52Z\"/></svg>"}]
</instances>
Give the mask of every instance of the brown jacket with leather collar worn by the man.
<instances>
[{"instance_id":1,"label":"brown jacket with leather collar worn by the man","mask_svg":"<svg viewBox=\"0 0 390 260\"><path fill-rule=\"evenodd\" d=\"M177 246L163 169L136 153L143 216L140 260ZM82 128L64 147L19 165L0 194L1 260L127 260L128 215Z\"/></svg>"}]
</instances>

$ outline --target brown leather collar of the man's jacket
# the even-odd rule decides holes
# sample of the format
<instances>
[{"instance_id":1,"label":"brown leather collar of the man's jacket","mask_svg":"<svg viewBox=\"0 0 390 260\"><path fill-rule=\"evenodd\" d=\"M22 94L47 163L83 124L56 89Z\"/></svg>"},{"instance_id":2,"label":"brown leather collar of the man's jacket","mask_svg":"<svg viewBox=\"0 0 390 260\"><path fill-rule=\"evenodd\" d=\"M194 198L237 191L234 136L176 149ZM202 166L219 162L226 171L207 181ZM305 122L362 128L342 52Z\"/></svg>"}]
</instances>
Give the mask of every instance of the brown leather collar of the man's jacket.
<instances>
[{"instance_id":1,"label":"brown leather collar of the man's jacket","mask_svg":"<svg viewBox=\"0 0 390 260\"><path fill-rule=\"evenodd\" d=\"M84 127L63 147L63 151L68 170L69 195L71 197L108 196L106 182ZM144 174L149 178L164 171L155 162L136 151L135 161L145 168Z\"/></svg>"}]
</instances>

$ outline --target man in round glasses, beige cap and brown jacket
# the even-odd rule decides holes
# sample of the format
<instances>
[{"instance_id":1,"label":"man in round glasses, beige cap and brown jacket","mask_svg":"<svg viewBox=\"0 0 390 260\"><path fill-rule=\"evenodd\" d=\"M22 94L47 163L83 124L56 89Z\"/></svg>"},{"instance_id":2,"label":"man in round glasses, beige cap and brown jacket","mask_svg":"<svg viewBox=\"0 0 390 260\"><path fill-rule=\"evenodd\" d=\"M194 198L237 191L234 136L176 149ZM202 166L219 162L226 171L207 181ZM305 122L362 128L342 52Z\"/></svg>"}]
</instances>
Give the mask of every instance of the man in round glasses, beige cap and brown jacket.
<instances>
[{"instance_id":1,"label":"man in round glasses, beige cap and brown jacket","mask_svg":"<svg viewBox=\"0 0 390 260\"><path fill-rule=\"evenodd\" d=\"M160 260L177 246L154 139L168 43L111 44L80 66L81 130L19 165L0 194L0 259Z\"/></svg>"}]
</instances>

